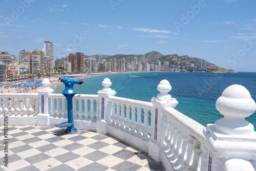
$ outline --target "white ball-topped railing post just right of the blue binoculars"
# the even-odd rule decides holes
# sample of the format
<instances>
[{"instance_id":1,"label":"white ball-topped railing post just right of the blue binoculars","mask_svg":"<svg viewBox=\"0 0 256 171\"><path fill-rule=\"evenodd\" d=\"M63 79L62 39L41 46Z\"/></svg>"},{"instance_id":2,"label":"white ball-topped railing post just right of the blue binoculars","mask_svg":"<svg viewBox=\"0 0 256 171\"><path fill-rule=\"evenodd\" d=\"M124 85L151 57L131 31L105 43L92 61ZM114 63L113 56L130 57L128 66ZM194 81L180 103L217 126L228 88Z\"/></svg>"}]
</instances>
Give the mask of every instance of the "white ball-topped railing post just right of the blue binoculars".
<instances>
[{"instance_id":1,"label":"white ball-topped railing post just right of the blue binoculars","mask_svg":"<svg viewBox=\"0 0 256 171\"><path fill-rule=\"evenodd\" d=\"M98 91L99 95L99 118L97 118L96 131L98 133L107 134L107 124L111 123L112 104L109 102L110 96L115 96L115 90L111 90L111 81L105 78L102 82L102 90Z\"/></svg>"}]
</instances>

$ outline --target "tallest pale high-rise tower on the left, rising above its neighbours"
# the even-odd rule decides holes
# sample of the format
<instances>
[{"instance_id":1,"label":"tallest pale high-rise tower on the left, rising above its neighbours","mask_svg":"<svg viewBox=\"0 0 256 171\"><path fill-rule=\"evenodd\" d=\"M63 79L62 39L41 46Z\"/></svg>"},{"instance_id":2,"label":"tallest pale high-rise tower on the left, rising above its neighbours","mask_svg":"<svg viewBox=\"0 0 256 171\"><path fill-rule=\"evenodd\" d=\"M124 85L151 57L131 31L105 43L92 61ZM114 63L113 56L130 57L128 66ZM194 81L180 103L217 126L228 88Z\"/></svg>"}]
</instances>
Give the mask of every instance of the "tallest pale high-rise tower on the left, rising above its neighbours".
<instances>
[{"instance_id":1,"label":"tallest pale high-rise tower on the left, rising above its neighbours","mask_svg":"<svg viewBox=\"0 0 256 171\"><path fill-rule=\"evenodd\" d=\"M46 68L51 68L51 71L53 72L53 53L54 53L54 44L53 42L46 40L44 41L44 51L45 51L45 56L46 56ZM49 69L48 69L49 70Z\"/></svg>"}]
</instances>

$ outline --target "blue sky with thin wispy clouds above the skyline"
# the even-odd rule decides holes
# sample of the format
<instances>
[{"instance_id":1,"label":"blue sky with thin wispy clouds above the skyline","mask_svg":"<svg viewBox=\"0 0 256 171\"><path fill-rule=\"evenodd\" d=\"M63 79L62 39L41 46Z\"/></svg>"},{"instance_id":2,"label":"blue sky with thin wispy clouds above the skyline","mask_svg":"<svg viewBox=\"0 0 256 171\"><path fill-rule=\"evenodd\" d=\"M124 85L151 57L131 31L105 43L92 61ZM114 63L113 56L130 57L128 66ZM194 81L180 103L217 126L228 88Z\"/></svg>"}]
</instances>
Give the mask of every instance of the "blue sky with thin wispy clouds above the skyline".
<instances>
[{"instance_id":1,"label":"blue sky with thin wispy clouds above the skyline","mask_svg":"<svg viewBox=\"0 0 256 171\"><path fill-rule=\"evenodd\" d=\"M0 51L41 50L54 59L158 51L256 72L254 0L0 0Z\"/></svg>"}]
</instances>

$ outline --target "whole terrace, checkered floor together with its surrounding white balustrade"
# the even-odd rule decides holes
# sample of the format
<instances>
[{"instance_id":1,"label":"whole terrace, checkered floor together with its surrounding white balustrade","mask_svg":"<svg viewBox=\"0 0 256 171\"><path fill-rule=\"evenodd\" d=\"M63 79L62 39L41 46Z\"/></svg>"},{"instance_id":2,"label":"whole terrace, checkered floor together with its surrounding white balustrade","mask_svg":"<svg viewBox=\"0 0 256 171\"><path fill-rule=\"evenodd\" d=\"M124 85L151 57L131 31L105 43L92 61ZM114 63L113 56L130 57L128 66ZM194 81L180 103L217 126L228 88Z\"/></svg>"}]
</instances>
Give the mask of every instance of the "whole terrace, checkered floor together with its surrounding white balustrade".
<instances>
[{"instance_id":1,"label":"whole terrace, checkered floor together with its surrounding white balustrade","mask_svg":"<svg viewBox=\"0 0 256 171\"><path fill-rule=\"evenodd\" d=\"M0 170L256 170L256 133L245 120L256 104L243 86L223 91L216 109L224 118L205 127L174 109L167 80L145 102L116 97L105 78L97 95L73 97L79 131L64 134L54 125L67 122L67 100L49 84L1 94Z\"/></svg>"}]
</instances>

